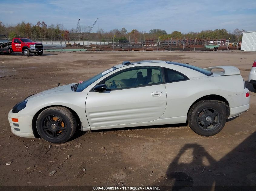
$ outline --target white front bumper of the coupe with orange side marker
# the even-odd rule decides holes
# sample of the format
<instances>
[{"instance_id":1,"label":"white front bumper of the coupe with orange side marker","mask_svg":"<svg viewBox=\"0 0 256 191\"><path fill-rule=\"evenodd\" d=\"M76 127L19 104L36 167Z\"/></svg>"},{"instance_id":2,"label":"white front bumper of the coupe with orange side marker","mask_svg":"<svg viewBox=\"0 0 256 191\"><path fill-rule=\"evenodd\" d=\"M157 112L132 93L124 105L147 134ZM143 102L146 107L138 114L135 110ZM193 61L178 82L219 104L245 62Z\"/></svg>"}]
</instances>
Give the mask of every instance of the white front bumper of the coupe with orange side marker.
<instances>
[{"instance_id":1,"label":"white front bumper of the coupe with orange side marker","mask_svg":"<svg viewBox=\"0 0 256 191\"><path fill-rule=\"evenodd\" d=\"M18 118L18 122L13 122L12 118ZM8 121L11 126L11 131L19 137L35 138L32 129L33 116L18 116L18 113L8 113Z\"/></svg>"}]
</instances>

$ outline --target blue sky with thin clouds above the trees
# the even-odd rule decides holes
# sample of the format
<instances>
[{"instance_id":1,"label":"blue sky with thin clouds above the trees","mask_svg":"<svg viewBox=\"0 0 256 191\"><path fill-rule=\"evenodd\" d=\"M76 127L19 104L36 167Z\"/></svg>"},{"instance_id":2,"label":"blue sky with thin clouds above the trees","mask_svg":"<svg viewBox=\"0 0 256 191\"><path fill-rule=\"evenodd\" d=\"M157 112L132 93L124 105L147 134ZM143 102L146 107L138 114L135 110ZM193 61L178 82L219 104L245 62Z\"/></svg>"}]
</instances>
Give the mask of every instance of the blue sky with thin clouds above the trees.
<instances>
[{"instance_id":1,"label":"blue sky with thin clouds above the trees","mask_svg":"<svg viewBox=\"0 0 256 191\"><path fill-rule=\"evenodd\" d=\"M162 29L188 33L207 29L235 28L256 30L256 0L1 0L0 21L15 25L25 21L36 24L63 24L65 29L92 25L92 31L125 27Z\"/></svg>"}]
</instances>

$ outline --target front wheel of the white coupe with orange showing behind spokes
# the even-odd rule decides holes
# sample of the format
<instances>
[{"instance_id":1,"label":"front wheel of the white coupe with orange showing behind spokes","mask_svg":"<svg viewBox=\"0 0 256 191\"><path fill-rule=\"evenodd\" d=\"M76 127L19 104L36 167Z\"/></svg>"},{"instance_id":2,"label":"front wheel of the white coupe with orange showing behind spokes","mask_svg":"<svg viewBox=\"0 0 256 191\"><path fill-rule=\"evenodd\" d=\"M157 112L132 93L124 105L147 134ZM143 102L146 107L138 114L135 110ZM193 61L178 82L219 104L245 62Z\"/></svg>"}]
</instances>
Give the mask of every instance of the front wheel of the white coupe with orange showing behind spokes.
<instances>
[{"instance_id":1,"label":"front wheel of the white coupe with orange showing behind spokes","mask_svg":"<svg viewBox=\"0 0 256 191\"><path fill-rule=\"evenodd\" d=\"M76 119L65 107L49 107L37 117L36 129L38 134L51 143L64 143L76 131Z\"/></svg>"}]
</instances>

